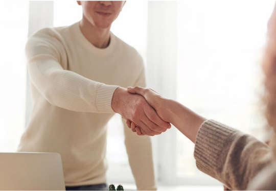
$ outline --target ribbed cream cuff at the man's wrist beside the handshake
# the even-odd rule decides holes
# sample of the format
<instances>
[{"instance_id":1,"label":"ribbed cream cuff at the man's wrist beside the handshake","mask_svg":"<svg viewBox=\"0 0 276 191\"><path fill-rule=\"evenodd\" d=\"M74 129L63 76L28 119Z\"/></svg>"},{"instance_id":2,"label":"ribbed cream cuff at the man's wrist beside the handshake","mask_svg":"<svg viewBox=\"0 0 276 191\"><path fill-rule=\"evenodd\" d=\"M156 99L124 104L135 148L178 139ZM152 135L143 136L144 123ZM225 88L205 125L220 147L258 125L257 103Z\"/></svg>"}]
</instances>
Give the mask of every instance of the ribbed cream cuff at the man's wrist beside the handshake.
<instances>
[{"instance_id":1,"label":"ribbed cream cuff at the man's wrist beside the handshake","mask_svg":"<svg viewBox=\"0 0 276 191\"><path fill-rule=\"evenodd\" d=\"M95 105L100 113L114 113L111 101L114 91L120 86L102 84L97 90Z\"/></svg>"}]
</instances>

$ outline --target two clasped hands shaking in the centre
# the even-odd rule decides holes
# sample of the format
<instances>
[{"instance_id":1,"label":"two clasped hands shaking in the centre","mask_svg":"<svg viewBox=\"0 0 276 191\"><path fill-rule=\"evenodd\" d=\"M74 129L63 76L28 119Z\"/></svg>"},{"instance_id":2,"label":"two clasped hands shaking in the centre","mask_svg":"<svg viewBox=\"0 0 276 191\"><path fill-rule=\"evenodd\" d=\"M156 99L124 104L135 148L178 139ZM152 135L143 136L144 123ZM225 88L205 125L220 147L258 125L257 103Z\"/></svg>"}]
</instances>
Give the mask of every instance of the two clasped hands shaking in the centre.
<instances>
[{"instance_id":1,"label":"two clasped hands shaking in the centre","mask_svg":"<svg viewBox=\"0 0 276 191\"><path fill-rule=\"evenodd\" d=\"M133 132L153 136L171 128L166 100L150 88L119 87L113 93L111 107L127 120Z\"/></svg>"}]
</instances>

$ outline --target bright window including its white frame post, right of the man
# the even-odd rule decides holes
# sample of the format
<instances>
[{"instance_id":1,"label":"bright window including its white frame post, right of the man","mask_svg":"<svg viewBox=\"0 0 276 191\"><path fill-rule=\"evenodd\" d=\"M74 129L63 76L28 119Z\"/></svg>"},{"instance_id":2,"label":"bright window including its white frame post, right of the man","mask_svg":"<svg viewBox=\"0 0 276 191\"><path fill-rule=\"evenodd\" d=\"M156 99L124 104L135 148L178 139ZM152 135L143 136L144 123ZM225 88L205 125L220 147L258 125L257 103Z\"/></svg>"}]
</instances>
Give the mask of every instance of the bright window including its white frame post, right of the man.
<instances>
[{"instance_id":1,"label":"bright window including its white frame post, right of the man","mask_svg":"<svg viewBox=\"0 0 276 191\"><path fill-rule=\"evenodd\" d=\"M164 96L258 138L260 58L270 1L149 1L148 84ZM258 14L257 14L258 13ZM175 129L153 137L160 182L217 184Z\"/></svg>"}]
</instances>

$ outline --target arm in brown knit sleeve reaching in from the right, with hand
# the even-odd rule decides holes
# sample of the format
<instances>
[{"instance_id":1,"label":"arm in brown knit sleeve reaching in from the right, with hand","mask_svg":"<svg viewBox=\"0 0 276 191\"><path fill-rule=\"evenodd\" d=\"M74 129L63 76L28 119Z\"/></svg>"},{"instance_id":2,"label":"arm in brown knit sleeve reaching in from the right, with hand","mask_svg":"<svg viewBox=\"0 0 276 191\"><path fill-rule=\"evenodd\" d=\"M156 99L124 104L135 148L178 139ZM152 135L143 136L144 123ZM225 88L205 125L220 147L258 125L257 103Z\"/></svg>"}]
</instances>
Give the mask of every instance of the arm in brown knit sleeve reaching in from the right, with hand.
<instances>
[{"instance_id":1,"label":"arm in brown knit sleeve reaching in from the right, with hand","mask_svg":"<svg viewBox=\"0 0 276 191\"><path fill-rule=\"evenodd\" d=\"M271 150L264 142L216 121L205 121L151 89L134 87L128 91L143 95L164 121L192 140L197 168L228 188L246 190L251 180L271 163Z\"/></svg>"}]
</instances>

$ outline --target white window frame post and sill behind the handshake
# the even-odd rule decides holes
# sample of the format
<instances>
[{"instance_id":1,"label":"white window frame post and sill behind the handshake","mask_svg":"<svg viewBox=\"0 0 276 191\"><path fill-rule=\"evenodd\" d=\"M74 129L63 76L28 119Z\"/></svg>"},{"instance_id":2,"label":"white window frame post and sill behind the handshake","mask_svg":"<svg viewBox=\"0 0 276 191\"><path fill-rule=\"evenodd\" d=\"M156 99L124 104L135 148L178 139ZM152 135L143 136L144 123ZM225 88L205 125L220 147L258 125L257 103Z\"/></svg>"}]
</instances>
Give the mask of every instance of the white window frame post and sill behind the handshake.
<instances>
[{"instance_id":1,"label":"white window frame post and sill behind the handshake","mask_svg":"<svg viewBox=\"0 0 276 191\"><path fill-rule=\"evenodd\" d=\"M177 1L148 1L147 48L148 87L176 100ZM173 127L152 138L158 182L166 185L221 185L219 181L209 177L177 177L176 135L177 129Z\"/></svg>"}]
</instances>

